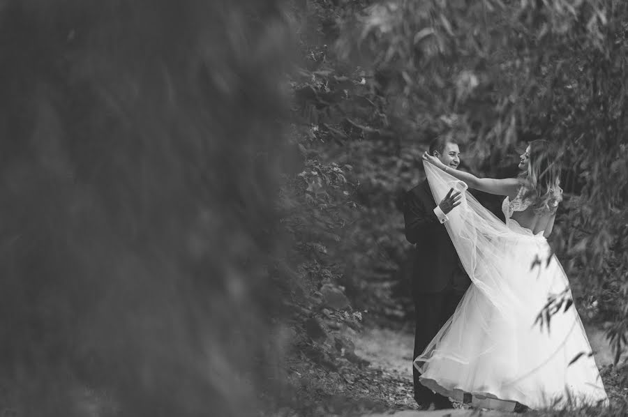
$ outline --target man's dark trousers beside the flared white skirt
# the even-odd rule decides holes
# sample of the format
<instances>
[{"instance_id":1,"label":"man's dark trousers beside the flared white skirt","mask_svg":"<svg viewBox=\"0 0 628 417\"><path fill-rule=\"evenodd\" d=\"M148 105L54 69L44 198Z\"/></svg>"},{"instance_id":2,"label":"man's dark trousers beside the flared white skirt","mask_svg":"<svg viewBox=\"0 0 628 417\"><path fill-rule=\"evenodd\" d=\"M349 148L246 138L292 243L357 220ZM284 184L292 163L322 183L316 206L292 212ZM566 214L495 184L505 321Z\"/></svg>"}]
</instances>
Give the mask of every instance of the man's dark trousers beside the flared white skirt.
<instances>
[{"instance_id":1,"label":"man's dark trousers beside the flared white skirt","mask_svg":"<svg viewBox=\"0 0 628 417\"><path fill-rule=\"evenodd\" d=\"M429 342L451 317L451 314L454 314L464 294L465 291L457 289L447 289L431 294L414 294L416 327L414 328L414 356L412 356L412 361L423 353ZM447 400L442 395L433 393L429 388L421 385L419 381L421 374L414 367L414 363L412 374L414 377L414 400L417 400L419 405L427 406L431 402L440 403Z\"/></svg>"}]
</instances>

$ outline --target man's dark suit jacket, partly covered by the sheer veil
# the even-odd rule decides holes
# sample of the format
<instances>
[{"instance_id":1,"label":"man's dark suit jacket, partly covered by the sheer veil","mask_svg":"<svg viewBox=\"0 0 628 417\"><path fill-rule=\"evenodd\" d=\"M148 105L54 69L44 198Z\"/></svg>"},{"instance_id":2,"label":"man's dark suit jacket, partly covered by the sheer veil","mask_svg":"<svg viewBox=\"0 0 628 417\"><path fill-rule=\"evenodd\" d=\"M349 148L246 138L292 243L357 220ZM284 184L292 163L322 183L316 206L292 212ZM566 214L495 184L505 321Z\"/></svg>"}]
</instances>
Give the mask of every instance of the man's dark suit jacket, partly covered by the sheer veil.
<instances>
[{"instance_id":1,"label":"man's dark suit jacket, partly covered by the sheer veil","mask_svg":"<svg viewBox=\"0 0 628 417\"><path fill-rule=\"evenodd\" d=\"M436 206L427 180L405 195L405 238L414 243L414 294L433 294L449 289L464 291L471 283L447 229L434 214Z\"/></svg>"}]
</instances>

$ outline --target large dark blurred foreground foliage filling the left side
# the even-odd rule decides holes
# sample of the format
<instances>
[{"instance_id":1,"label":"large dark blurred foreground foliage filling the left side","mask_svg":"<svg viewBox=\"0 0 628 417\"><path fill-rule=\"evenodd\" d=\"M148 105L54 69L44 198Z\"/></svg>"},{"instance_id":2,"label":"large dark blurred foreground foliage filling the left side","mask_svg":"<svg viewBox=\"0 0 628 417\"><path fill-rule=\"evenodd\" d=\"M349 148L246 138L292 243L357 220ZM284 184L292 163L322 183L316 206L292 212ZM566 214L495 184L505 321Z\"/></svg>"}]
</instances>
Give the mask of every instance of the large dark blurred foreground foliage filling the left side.
<instances>
[{"instance_id":1,"label":"large dark blurred foreground foliage filling the left side","mask_svg":"<svg viewBox=\"0 0 628 417\"><path fill-rule=\"evenodd\" d=\"M6 409L246 416L272 391L278 7L1 4Z\"/></svg>"}]
</instances>

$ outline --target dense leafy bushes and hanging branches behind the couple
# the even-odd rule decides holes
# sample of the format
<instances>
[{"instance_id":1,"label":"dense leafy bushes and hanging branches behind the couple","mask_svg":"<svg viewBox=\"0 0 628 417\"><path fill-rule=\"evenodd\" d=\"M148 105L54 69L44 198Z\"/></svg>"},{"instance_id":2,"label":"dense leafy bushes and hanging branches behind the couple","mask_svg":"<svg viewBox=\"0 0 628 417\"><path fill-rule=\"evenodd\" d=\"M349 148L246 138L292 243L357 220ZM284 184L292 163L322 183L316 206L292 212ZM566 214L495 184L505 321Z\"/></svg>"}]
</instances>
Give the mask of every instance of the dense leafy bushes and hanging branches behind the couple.
<instances>
[{"instance_id":1,"label":"dense leafy bushes and hanging branches behind the couple","mask_svg":"<svg viewBox=\"0 0 628 417\"><path fill-rule=\"evenodd\" d=\"M417 158L435 134L455 130L467 168L495 176L507 174L526 141L543 137L558 144L565 167L553 246L583 317L612 322L609 335L622 349L628 332L628 5L307 5L300 20L309 28L301 31L307 58L293 84L295 120L307 138L301 141L306 160L352 167L345 173L347 192L359 211L343 211L344 226L325 259L338 265L334 277L354 307L389 317L409 310L403 297L389 303L396 309L386 305L400 282L403 288L398 278L408 248L394 202L399 190L420 181ZM346 204L347 196L329 206L334 202Z\"/></svg>"}]
</instances>

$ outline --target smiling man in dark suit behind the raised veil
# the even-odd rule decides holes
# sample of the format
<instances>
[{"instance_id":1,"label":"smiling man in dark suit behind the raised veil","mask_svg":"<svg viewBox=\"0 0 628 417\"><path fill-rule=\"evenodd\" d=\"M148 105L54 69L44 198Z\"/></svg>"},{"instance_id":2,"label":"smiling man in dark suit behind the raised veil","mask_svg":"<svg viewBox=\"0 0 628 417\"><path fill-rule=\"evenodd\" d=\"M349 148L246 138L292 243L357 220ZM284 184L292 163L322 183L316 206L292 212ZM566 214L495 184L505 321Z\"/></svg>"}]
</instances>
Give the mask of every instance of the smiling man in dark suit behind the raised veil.
<instances>
[{"instance_id":1,"label":"smiling man in dark suit behind the raised veil","mask_svg":"<svg viewBox=\"0 0 628 417\"><path fill-rule=\"evenodd\" d=\"M460 165L460 149L451 136L434 139L429 153L452 169L457 169ZM425 180L408 191L405 197L405 238L414 243L412 298L416 327L412 360L423 353L443 324L454 314L458 302L470 285L470 279L461 266L443 224L448 220L447 213L460 204L459 194L450 190L436 204L430 185ZM447 397L433 393L421 385L420 373L414 365L412 372L414 400L421 409L428 409L431 404L435 409L453 407Z\"/></svg>"}]
</instances>

